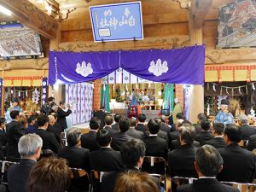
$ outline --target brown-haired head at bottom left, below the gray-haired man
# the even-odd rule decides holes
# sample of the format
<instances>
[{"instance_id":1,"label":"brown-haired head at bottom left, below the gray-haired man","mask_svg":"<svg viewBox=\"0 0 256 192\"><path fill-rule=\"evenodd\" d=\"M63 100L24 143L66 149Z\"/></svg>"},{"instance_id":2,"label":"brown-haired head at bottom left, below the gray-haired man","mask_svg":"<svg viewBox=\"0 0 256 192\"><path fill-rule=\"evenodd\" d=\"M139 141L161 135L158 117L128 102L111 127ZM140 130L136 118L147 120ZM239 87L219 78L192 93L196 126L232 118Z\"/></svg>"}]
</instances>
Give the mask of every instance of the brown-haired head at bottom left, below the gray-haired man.
<instances>
[{"instance_id":1,"label":"brown-haired head at bottom left, below the gray-haired man","mask_svg":"<svg viewBox=\"0 0 256 192\"><path fill-rule=\"evenodd\" d=\"M44 158L33 166L27 192L66 192L71 180L67 160Z\"/></svg>"}]
</instances>

